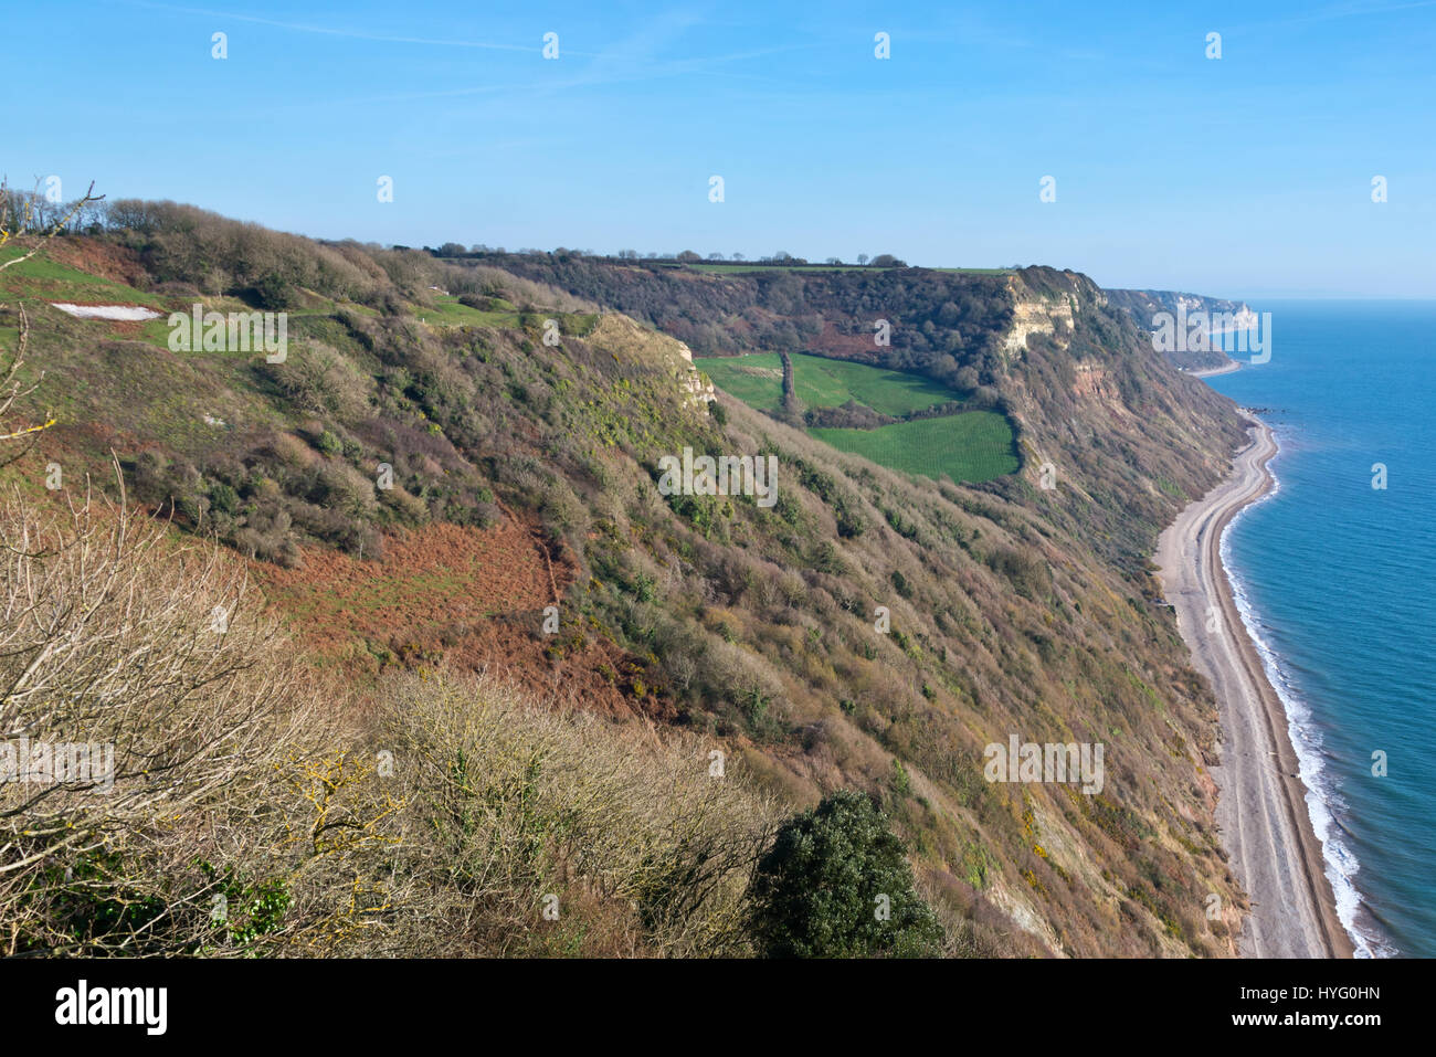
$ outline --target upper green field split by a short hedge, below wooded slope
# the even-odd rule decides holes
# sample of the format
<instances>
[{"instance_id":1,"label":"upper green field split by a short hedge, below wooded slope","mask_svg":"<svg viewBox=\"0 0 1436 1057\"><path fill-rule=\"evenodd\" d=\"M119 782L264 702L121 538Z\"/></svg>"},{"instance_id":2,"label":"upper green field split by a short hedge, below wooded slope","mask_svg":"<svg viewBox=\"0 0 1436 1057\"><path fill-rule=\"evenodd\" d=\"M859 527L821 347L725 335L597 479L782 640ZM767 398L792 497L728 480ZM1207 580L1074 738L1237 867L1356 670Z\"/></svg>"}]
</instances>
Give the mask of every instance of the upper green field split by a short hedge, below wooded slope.
<instances>
[{"instance_id":1,"label":"upper green field split by a short hedge, below wooded slope","mask_svg":"<svg viewBox=\"0 0 1436 1057\"><path fill-rule=\"evenodd\" d=\"M775 411L783 404L783 360L774 352L707 356L694 362L714 385L751 408ZM804 353L793 355L793 379L798 399L808 408L840 408L853 399L898 418L961 399L959 394L922 375Z\"/></svg>"}]
</instances>

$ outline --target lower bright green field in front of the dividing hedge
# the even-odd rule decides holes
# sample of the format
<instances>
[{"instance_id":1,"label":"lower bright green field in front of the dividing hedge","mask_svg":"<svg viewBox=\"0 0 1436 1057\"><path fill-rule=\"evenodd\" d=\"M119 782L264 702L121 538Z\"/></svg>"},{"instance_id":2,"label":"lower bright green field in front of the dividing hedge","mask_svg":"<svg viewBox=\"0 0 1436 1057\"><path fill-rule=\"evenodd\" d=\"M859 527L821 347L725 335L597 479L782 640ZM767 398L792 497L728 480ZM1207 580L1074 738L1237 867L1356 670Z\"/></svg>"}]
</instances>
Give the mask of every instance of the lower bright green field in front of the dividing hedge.
<instances>
[{"instance_id":1,"label":"lower bright green field in front of the dividing hedge","mask_svg":"<svg viewBox=\"0 0 1436 1057\"><path fill-rule=\"evenodd\" d=\"M991 481L1018 470L1012 427L995 411L920 418L877 429L813 429L840 451L933 480Z\"/></svg>"}]
</instances>

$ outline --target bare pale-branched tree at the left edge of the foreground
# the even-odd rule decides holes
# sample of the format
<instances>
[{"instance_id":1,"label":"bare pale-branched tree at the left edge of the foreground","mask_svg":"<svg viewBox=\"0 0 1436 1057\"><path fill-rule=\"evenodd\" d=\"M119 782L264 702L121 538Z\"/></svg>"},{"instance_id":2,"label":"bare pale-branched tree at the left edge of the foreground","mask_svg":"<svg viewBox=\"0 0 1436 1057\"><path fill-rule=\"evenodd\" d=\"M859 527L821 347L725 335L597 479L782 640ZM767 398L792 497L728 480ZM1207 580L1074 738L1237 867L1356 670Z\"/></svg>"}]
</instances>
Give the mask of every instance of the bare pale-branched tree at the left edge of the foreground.
<instances>
[{"instance_id":1,"label":"bare pale-branched tree at the left edge of the foreground","mask_svg":"<svg viewBox=\"0 0 1436 1057\"><path fill-rule=\"evenodd\" d=\"M215 546L86 501L0 506L0 936L174 954L279 867L273 790L313 750L289 646ZM221 935L224 931L221 929Z\"/></svg>"}]
</instances>

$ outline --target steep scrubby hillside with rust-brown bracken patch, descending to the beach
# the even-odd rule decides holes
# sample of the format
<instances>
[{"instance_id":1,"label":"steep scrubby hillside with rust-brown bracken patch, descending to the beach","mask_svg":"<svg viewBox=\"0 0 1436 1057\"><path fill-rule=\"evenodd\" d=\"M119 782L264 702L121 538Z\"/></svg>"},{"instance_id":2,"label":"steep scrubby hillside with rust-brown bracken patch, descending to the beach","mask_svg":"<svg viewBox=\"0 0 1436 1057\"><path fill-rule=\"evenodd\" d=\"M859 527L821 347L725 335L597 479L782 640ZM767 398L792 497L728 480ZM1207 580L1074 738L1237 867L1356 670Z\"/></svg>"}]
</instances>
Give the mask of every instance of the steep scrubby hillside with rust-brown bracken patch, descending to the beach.
<instances>
[{"instance_id":1,"label":"steep scrubby hillside with rust-brown bracken patch, descending to the beach","mask_svg":"<svg viewBox=\"0 0 1436 1057\"><path fill-rule=\"evenodd\" d=\"M30 409L59 418L9 472L76 488L113 450L359 685L447 658L688 728L793 807L875 793L964 952L1232 952L1205 916L1211 892L1241 906L1215 709L1144 566L1223 471L1229 402L1074 273L511 264L136 205L0 276L47 372ZM286 362L175 350L167 316L195 303L289 312ZM962 487L839 452L714 394L689 346L923 373L1007 415L1022 468ZM685 448L774 455L774 501L663 494ZM987 780L1011 738L1103 745L1100 788Z\"/></svg>"}]
</instances>

